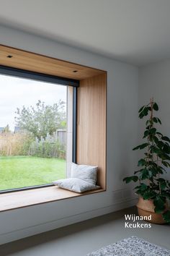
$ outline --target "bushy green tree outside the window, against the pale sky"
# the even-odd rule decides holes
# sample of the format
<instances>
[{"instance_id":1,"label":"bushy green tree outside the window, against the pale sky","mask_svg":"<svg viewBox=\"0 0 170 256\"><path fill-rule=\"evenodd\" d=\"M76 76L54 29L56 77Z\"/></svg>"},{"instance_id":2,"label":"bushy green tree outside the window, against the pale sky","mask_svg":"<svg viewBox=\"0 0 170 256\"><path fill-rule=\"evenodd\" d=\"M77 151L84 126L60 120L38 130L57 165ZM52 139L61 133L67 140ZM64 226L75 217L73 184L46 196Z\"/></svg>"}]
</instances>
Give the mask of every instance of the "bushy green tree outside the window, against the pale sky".
<instances>
[{"instance_id":1,"label":"bushy green tree outside the window, against the pale sky","mask_svg":"<svg viewBox=\"0 0 170 256\"><path fill-rule=\"evenodd\" d=\"M61 100L52 106L38 101L35 107L17 108L15 114L16 125L39 139L48 133L53 135L57 129L66 128L66 103Z\"/></svg>"}]
</instances>

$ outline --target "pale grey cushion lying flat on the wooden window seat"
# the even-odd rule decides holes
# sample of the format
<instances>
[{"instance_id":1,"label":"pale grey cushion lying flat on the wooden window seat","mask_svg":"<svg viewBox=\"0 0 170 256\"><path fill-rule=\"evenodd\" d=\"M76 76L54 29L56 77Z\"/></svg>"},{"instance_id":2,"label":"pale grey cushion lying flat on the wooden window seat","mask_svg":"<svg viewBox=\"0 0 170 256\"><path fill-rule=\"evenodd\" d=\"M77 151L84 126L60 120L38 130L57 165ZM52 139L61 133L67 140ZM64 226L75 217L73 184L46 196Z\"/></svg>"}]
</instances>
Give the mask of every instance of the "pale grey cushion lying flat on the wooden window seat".
<instances>
[{"instance_id":1,"label":"pale grey cushion lying flat on the wooden window seat","mask_svg":"<svg viewBox=\"0 0 170 256\"><path fill-rule=\"evenodd\" d=\"M78 193L93 189L99 189L99 186L95 186L94 184L78 178L58 179L58 181L53 182L53 184L61 187L62 189L68 189Z\"/></svg>"}]
</instances>

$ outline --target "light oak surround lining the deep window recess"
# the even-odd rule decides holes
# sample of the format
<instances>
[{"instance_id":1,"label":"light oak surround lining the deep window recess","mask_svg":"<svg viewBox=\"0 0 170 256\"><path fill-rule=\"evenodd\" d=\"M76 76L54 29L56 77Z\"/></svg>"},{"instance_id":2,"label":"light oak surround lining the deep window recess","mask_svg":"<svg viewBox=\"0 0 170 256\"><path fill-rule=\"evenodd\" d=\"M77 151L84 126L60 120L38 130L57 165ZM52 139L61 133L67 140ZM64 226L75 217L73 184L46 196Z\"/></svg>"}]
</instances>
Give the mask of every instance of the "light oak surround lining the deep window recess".
<instances>
[{"instance_id":1,"label":"light oak surround lining the deep window recess","mask_svg":"<svg viewBox=\"0 0 170 256\"><path fill-rule=\"evenodd\" d=\"M76 158L76 162L79 164L98 166L99 171L97 184L101 189L97 190L97 192L106 191L107 72L3 45L0 45L0 65L9 68L22 69L26 72L36 72L46 74L48 76L63 77L66 80L79 80L79 88L77 88L76 95L77 150L74 159ZM39 191L45 191L43 189L49 189L51 193L52 190L50 189L55 189L55 187L40 188ZM66 193L66 191L59 188L57 191L58 195L60 194L60 198L55 195L54 200L62 200L68 197L79 196L75 195L74 192ZM63 197L61 195L62 191ZM3 210L3 202L5 202L7 198L8 202L10 202L10 200L14 200L14 195L17 196L17 193L20 193L19 195L22 193L23 197L25 197L25 193L30 195L31 190L9 193L8 197L7 195L0 195L0 204L2 200L2 208L0 208L0 211ZM33 193L35 194L35 189L32 189L32 195ZM83 195L89 195L89 193L94 192L84 193ZM69 194L69 196L67 197L64 194ZM41 202L41 200L38 202L37 198L35 201L30 202L30 200L28 200L23 207L43 202L51 202L53 199L50 197L50 199L48 198L43 202ZM10 203L8 205L10 205ZM15 207L13 205L12 208L4 206L4 210L10 210L17 207L22 207L20 202L16 202Z\"/></svg>"}]
</instances>

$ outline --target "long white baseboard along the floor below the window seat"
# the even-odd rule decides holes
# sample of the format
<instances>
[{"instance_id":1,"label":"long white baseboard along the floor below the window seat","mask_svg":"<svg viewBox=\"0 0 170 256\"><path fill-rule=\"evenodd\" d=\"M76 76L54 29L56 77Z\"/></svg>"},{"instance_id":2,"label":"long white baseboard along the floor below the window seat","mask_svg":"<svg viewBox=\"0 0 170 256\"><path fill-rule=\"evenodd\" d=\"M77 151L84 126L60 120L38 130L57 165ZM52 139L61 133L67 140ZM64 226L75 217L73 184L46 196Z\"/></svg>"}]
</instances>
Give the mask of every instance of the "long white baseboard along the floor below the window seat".
<instances>
[{"instance_id":1,"label":"long white baseboard along the floor below the window seat","mask_svg":"<svg viewBox=\"0 0 170 256\"><path fill-rule=\"evenodd\" d=\"M55 221L48 221L47 223L41 223L39 225L30 226L26 229L19 229L17 231L12 231L6 234L0 235L0 244L6 244L8 242L13 242L18 239L23 239L28 236L33 236L35 234L40 234L45 231L50 231L53 229L58 229L63 226L68 226L73 223L77 223L80 221L86 221L89 218L95 218L97 216L102 216L107 213L112 213L117 210L122 210L125 208L129 208L137 202L137 199L133 200L126 200L126 201L120 201L117 202L114 205L109 205L104 208L99 208L91 211L87 211L86 213L81 213L73 216L69 216L66 218L60 218Z\"/></svg>"}]
</instances>

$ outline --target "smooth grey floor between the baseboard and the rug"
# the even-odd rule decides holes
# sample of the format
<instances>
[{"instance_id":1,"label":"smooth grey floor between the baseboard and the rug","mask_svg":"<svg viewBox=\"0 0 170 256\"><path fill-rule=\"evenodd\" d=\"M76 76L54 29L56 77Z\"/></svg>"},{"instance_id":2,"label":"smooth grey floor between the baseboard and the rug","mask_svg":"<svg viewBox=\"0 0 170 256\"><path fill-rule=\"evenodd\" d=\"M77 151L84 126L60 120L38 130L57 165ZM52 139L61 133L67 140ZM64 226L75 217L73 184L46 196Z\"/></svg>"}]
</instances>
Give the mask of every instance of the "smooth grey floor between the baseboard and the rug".
<instances>
[{"instance_id":1,"label":"smooth grey floor between the baseboard and the rug","mask_svg":"<svg viewBox=\"0 0 170 256\"><path fill-rule=\"evenodd\" d=\"M135 213L134 208L4 244L0 246L0 255L81 256L130 236L170 249L169 225L152 224L151 229L125 229L125 213Z\"/></svg>"}]
</instances>

